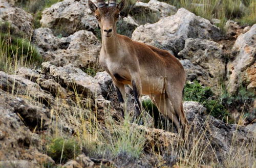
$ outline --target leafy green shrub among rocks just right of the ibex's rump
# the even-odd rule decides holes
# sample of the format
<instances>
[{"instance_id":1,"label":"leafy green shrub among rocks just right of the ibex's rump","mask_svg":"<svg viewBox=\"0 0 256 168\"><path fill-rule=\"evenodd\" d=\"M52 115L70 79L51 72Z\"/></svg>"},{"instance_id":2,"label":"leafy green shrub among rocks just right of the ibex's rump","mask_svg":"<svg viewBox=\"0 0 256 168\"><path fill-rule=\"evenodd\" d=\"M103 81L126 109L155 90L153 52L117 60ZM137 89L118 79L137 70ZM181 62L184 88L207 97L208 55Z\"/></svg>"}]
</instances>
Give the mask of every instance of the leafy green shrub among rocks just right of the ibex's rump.
<instances>
[{"instance_id":1,"label":"leafy green shrub among rocks just right of the ibex's rump","mask_svg":"<svg viewBox=\"0 0 256 168\"><path fill-rule=\"evenodd\" d=\"M186 83L184 88L185 101L197 101L206 107L207 114L214 116L217 119L226 121L229 116L228 111L219 100L212 100L214 94L208 87L202 87L198 81Z\"/></svg>"}]
</instances>

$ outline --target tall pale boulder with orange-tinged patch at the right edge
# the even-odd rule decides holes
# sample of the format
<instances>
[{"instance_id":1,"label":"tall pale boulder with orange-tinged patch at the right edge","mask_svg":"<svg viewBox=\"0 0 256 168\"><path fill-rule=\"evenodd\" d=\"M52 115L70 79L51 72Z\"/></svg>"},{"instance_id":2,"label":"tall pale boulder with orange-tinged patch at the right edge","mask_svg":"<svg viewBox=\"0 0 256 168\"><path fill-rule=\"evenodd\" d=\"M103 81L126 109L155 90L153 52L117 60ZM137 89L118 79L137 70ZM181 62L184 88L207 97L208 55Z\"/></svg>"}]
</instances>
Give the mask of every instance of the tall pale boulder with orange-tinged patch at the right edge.
<instances>
[{"instance_id":1,"label":"tall pale boulder with orange-tinged patch at the right edge","mask_svg":"<svg viewBox=\"0 0 256 168\"><path fill-rule=\"evenodd\" d=\"M243 35L240 35L232 48L235 55L227 64L227 90L236 94L241 85L255 93L256 89L256 24Z\"/></svg>"}]
</instances>

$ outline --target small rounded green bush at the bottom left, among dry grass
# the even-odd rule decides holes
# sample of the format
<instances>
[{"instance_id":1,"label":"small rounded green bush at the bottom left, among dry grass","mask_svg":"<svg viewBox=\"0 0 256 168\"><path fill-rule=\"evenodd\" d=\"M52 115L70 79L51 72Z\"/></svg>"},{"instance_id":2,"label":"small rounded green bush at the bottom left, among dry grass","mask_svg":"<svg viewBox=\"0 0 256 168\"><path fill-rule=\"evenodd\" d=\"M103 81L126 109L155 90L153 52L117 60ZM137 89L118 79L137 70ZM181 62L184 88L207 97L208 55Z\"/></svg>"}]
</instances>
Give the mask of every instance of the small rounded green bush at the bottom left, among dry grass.
<instances>
[{"instance_id":1,"label":"small rounded green bush at the bottom left, among dry grass","mask_svg":"<svg viewBox=\"0 0 256 168\"><path fill-rule=\"evenodd\" d=\"M80 152L79 144L75 139L55 138L47 146L47 154L56 163L65 163L75 158Z\"/></svg>"}]
</instances>

